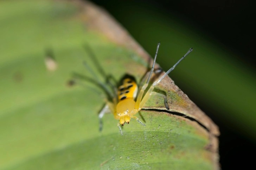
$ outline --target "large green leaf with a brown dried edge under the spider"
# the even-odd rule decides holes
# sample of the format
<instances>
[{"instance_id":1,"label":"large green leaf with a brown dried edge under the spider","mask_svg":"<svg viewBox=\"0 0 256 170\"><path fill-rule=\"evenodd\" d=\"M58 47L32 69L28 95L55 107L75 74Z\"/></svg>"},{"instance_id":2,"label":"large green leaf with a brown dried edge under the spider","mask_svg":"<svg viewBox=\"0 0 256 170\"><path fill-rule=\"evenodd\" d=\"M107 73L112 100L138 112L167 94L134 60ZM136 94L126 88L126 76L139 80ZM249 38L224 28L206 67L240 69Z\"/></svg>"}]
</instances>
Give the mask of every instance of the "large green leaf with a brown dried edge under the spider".
<instances>
[{"instance_id":1,"label":"large green leaf with a brown dried edge under the spider","mask_svg":"<svg viewBox=\"0 0 256 170\"><path fill-rule=\"evenodd\" d=\"M137 114L146 127L131 120L121 136L108 114L98 131L105 93L68 83L73 72L95 78L83 61L98 71L84 45L117 80L128 73L139 82L150 60L104 11L82 1L1 1L0 25L0 169L218 169L217 126L170 78L156 91L208 131L161 112L160 98Z\"/></svg>"}]
</instances>

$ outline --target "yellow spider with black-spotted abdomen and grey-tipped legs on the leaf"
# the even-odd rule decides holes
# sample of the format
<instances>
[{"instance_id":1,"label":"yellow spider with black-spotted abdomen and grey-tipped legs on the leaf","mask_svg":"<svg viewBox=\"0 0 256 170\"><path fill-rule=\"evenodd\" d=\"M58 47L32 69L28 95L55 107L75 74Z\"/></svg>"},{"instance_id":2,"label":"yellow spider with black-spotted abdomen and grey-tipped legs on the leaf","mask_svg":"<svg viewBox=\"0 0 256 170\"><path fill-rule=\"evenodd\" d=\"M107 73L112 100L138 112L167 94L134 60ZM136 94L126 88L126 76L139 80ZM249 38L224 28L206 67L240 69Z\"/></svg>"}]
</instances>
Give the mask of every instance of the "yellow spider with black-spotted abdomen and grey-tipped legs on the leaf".
<instances>
[{"instance_id":1,"label":"yellow spider with black-spotted abdomen and grey-tipped legs on the leaf","mask_svg":"<svg viewBox=\"0 0 256 170\"><path fill-rule=\"evenodd\" d=\"M125 123L129 124L131 118L136 119L141 125L146 126L134 115L141 110L141 108L145 105L145 103L147 102L147 100L152 94L158 95L164 98L165 107L169 109L166 96L164 94L153 92L154 87L159 82L161 82L161 80L165 78L165 76L167 76L172 70L174 70L174 68L193 50L193 48L188 50L188 52L176 64L174 64L172 68L169 69L163 76L155 80L155 82L149 87L148 91L143 97L143 94L146 88L148 87L149 80L151 79L152 73L154 71L154 65L155 65L157 54L158 54L159 46L160 46L160 42L158 43L156 48L152 69L150 72L147 73L148 75L147 82L142 87L140 87L139 93L138 93L138 86L136 85L135 81L132 78L124 78L121 82L121 85L118 88L112 85L112 87L114 87L115 94L111 94L108 88L97 79L97 83L99 83L104 88L105 91L111 94L111 98L113 99L112 101L107 101L106 105L103 107L103 109L99 113L98 117L100 119L100 131L102 130L102 117L105 113L109 113L109 112L113 113L115 119L120 120L117 123L117 126L120 129L121 135L123 135L123 132L120 125L124 126ZM86 66L91 71L88 65ZM94 74L94 76L96 75ZM137 97L137 100L135 101L136 97Z\"/></svg>"}]
</instances>

